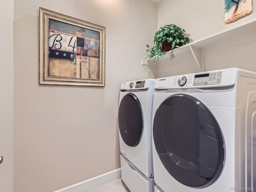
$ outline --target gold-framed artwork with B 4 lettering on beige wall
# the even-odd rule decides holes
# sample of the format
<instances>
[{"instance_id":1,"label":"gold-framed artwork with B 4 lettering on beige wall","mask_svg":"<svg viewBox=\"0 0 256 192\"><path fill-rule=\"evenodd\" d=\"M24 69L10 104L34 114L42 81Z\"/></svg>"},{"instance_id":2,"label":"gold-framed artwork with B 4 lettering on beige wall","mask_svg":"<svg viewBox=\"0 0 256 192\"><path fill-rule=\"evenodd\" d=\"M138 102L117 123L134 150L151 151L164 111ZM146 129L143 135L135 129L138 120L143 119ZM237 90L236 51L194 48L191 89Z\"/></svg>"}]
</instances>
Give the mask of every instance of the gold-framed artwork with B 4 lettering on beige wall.
<instances>
[{"instance_id":1,"label":"gold-framed artwork with B 4 lettering on beige wall","mask_svg":"<svg viewBox=\"0 0 256 192\"><path fill-rule=\"evenodd\" d=\"M105 86L105 30L40 8L39 84Z\"/></svg>"}]
</instances>

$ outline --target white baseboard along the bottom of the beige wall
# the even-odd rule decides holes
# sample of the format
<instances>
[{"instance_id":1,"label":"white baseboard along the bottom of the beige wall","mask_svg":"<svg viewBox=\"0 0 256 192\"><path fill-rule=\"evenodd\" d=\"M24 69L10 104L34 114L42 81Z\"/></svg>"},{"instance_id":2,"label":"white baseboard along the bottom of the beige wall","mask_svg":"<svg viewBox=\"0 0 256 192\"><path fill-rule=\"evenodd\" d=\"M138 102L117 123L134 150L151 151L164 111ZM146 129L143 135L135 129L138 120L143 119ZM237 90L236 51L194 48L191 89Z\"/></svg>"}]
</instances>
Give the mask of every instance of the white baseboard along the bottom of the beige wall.
<instances>
[{"instance_id":1,"label":"white baseboard along the bottom of the beige wall","mask_svg":"<svg viewBox=\"0 0 256 192\"><path fill-rule=\"evenodd\" d=\"M86 192L121 178L121 168L90 178L54 192Z\"/></svg>"}]
</instances>

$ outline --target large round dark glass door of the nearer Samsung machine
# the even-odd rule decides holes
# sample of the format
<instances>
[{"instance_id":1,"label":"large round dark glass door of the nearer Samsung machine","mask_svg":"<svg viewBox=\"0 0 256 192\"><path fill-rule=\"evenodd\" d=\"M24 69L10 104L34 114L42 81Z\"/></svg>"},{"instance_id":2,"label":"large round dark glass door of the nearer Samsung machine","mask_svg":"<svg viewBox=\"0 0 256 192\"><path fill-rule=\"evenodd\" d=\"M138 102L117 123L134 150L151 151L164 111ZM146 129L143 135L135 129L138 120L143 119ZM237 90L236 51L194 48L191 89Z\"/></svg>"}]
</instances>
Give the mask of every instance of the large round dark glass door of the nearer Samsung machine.
<instances>
[{"instance_id":1,"label":"large round dark glass door of the nearer Samsung machine","mask_svg":"<svg viewBox=\"0 0 256 192\"><path fill-rule=\"evenodd\" d=\"M174 95L154 117L154 144L166 170L178 182L206 187L224 166L224 141L211 112L188 95Z\"/></svg>"}]
</instances>

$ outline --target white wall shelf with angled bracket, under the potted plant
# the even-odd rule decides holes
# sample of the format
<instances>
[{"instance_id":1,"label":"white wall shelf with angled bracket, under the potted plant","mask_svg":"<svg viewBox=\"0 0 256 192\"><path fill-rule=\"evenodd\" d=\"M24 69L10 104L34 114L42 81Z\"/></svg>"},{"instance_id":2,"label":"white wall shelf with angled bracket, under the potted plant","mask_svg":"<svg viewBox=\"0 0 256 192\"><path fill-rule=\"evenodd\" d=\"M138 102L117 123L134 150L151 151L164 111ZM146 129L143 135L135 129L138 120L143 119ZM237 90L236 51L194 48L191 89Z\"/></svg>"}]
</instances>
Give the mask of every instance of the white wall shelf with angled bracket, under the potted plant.
<instances>
[{"instance_id":1,"label":"white wall shelf with angled bracket, under the potted plant","mask_svg":"<svg viewBox=\"0 0 256 192\"><path fill-rule=\"evenodd\" d=\"M256 19L250 20L243 24L234 26L222 32L213 34L206 38L191 42L178 49L173 50L175 58L170 60L170 51L166 52L164 57L160 60L153 61L153 58L147 59L149 65L166 65L173 62L179 62L181 60L194 58L194 61L198 65L200 71L204 71L204 61L202 50L208 50L214 46L223 45L226 48L234 46L232 40L243 38L251 34L256 34ZM255 38L253 38L255 40ZM247 39L250 42L250 40ZM235 46L244 44L243 40L237 41ZM144 64L144 63L143 63Z\"/></svg>"}]
</instances>

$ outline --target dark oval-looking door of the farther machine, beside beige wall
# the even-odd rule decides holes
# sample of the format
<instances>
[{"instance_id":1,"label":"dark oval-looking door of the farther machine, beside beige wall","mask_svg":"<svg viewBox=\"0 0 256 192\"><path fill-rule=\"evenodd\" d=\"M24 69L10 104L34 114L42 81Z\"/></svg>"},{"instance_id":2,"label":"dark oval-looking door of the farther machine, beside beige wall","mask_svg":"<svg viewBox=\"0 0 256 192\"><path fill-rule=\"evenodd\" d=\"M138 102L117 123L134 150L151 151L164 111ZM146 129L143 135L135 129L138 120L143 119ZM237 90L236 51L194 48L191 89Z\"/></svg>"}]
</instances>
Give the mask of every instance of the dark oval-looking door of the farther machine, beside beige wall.
<instances>
[{"instance_id":1,"label":"dark oval-looking door of the farther machine, beside beige wall","mask_svg":"<svg viewBox=\"0 0 256 192\"><path fill-rule=\"evenodd\" d=\"M126 94L119 105L118 125L122 140L128 146L137 146L143 128L142 109L138 98L131 93Z\"/></svg>"}]
</instances>

